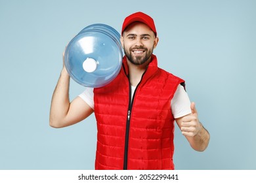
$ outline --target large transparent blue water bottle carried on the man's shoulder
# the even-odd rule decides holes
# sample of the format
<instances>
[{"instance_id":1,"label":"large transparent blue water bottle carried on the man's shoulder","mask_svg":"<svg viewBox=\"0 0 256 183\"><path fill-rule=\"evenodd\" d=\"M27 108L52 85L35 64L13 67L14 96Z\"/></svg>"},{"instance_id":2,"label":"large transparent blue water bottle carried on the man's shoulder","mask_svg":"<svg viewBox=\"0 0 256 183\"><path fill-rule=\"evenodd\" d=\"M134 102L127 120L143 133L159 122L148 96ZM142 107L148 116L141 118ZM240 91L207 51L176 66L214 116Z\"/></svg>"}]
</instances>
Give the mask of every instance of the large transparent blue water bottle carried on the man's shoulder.
<instances>
[{"instance_id":1,"label":"large transparent blue water bottle carried on the man's shoulder","mask_svg":"<svg viewBox=\"0 0 256 183\"><path fill-rule=\"evenodd\" d=\"M120 35L116 29L105 24L92 24L68 43L64 64L75 82L98 88L116 78L122 58Z\"/></svg>"}]
</instances>

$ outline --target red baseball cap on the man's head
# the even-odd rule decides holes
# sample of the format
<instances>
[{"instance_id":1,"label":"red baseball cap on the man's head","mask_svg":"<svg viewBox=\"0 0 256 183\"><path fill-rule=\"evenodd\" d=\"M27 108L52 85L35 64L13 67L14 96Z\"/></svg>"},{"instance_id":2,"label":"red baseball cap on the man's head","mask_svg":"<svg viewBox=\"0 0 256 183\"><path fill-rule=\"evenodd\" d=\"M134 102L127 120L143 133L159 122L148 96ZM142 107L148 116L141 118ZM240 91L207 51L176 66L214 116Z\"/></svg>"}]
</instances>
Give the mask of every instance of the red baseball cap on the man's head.
<instances>
[{"instance_id":1,"label":"red baseball cap on the man's head","mask_svg":"<svg viewBox=\"0 0 256 183\"><path fill-rule=\"evenodd\" d=\"M142 23L148 25L148 27L150 27L150 29L152 29L152 31L155 33L155 35L157 35L153 18L151 18L147 14L144 14L143 12L135 12L134 14L131 14L131 15L127 16L127 18L125 18L125 20L123 21L121 35L123 35L123 31L126 29L126 27L133 22L142 22Z\"/></svg>"}]
</instances>

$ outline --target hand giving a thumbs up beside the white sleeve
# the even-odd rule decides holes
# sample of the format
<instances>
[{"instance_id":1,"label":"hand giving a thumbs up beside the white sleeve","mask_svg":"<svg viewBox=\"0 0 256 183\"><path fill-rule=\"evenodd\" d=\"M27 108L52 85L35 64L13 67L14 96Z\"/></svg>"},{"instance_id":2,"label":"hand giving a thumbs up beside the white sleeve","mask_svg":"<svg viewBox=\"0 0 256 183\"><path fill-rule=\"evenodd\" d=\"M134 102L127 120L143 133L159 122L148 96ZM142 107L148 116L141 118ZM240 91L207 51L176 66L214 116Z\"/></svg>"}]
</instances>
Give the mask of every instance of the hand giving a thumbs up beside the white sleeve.
<instances>
[{"instance_id":1,"label":"hand giving a thumbs up beside the white sleeve","mask_svg":"<svg viewBox=\"0 0 256 183\"><path fill-rule=\"evenodd\" d=\"M198 111L196 110L195 103L191 103L191 114L184 116L181 122L181 132L184 136L194 137L203 128L202 124L198 120Z\"/></svg>"}]
</instances>

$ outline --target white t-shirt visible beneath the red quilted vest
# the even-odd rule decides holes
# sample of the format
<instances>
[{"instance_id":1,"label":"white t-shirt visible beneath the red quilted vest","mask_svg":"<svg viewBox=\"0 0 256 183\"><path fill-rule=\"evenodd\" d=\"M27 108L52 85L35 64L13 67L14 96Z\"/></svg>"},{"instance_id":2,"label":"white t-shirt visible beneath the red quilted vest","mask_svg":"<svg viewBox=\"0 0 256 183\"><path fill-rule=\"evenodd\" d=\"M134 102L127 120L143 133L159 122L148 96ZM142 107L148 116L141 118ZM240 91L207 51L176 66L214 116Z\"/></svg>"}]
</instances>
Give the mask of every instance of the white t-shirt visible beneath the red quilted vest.
<instances>
[{"instance_id":1,"label":"white t-shirt visible beneath the red quilted vest","mask_svg":"<svg viewBox=\"0 0 256 183\"><path fill-rule=\"evenodd\" d=\"M132 96L135 92L135 88L135 86L131 86ZM93 96L93 88L85 88L85 91L79 95L83 101L85 101L91 108L94 109L95 103L93 101ZM187 114L191 113L188 93L186 93L181 84L179 84L170 105L174 118L181 118L182 116L186 116Z\"/></svg>"}]
</instances>

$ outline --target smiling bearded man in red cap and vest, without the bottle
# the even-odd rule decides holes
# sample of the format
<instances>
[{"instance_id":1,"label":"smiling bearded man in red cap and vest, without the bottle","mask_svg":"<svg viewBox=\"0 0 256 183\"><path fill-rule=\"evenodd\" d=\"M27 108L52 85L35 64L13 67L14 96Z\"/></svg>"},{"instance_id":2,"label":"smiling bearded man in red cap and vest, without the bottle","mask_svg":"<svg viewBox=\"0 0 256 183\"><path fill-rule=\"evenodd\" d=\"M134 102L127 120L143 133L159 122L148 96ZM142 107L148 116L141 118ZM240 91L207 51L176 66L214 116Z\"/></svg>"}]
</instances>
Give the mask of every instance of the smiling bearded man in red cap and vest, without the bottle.
<instances>
[{"instance_id":1,"label":"smiling bearded man in red cap and vest, without the bottle","mask_svg":"<svg viewBox=\"0 0 256 183\"><path fill-rule=\"evenodd\" d=\"M71 103L70 76L63 65L50 125L73 125L95 112L95 169L174 169L174 121L194 150L207 148L209 133L190 104L184 80L157 65L154 20L142 12L127 16L121 44L125 56L119 75L102 88L86 88Z\"/></svg>"}]
</instances>

